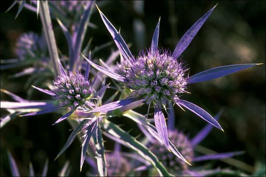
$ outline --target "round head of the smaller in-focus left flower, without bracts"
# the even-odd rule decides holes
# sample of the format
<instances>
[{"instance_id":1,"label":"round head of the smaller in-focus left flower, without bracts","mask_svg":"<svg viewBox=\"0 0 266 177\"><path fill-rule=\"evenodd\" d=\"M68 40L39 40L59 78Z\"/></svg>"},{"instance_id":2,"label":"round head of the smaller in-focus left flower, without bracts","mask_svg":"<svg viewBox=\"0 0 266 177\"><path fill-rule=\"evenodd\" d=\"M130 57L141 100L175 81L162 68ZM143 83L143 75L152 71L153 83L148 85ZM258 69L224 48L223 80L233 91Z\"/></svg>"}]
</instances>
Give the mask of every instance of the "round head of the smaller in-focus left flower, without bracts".
<instances>
[{"instance_id":1,"label":"round head of the smaller in-focus left flower, without bracts","mask_svg":"<svg viewBox=\"0 0 266 177\"><path fill-rule=\"evenodd\" d=\"M83 107L86 99L92 93L90 82L86 81L84 76L78 72L69 72L68 76L58 76L53 83L51 91L55 94L55 99L62 107Z\"/></svg>"}]
</instances>

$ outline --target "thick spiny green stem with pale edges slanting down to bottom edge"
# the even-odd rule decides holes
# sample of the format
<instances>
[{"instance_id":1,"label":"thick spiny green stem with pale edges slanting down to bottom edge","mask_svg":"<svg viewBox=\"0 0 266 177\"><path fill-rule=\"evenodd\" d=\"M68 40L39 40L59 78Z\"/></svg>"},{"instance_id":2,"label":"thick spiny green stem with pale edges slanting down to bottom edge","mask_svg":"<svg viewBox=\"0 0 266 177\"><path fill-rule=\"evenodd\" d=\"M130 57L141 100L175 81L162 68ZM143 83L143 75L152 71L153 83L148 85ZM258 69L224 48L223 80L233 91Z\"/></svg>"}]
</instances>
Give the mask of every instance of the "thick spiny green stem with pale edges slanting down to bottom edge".
<instances>
[{"instance_id":1,"label":"thick spiny green stem with pale edges slanting down to bottom edge","mask_svg":"<svg viewBox=\"0 0 266 177\"><path fill-rule=\"evenodd\" d=\"M159 172L161 176L171 176L169 172L167 172L166 168L163 166L163 164L158 160L158 158L143 144L138 142L136 139L134 139L130 134L122 130L117 125L113 124L112 122L105 120L101 124L102 128L112 136L116 138L120 138L124 143L125 146L133 149L136 151L139 155L141 155L144 159L148 160Z\"/></svg>"}]
</instances>

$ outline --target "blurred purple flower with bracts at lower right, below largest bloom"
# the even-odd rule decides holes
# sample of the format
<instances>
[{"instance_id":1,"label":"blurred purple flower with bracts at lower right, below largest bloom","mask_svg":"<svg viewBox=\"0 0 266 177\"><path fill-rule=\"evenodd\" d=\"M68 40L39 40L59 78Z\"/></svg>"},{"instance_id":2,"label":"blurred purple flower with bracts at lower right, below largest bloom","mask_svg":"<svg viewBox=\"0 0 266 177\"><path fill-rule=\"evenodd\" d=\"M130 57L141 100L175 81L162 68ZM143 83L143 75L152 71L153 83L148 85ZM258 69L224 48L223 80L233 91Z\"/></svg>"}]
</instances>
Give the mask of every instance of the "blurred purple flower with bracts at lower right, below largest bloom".
<instances>
[{"instance_id":1,"label":"blurred purple flower with bracts at lower right, below largest bloom","mask_svg":"<svg viewBox=\"0 0 266 177\"><path fill-rule=\"evenodd\" d=\"M219 119L221 116L222 111L220 111L216 116L214 116L215 119ZM170 117L169 119L172 119ZM173 120L170 120L173 121ZM219 160L224 159L228 157L232 157L235 155L240 155L243 153L243 151L235 151L235 152L224 152L224 153L214 153L214 154L206 154L206 155L200 155L196 156L194 154L195 147L202 141L204 138L210 133L212 130L212 127L210 124L206 125L199 133L192 139L189 139L187 135L184 133L174 129L173 126L169 126L168 129L168 135L169 135L169 141L171 141L175 147L180 151L180 153L184 156L184 158L189 163L196 163L199 161L205 161L205 160ZM147 133L147 132L146 132ZM151 136L148 136L151 137ZM191 176L192 174L197 176L205 176L207 175L205 171L204 174L201 174L200 169L198 166L190 167L187 163L180 160L179 158L175 157L172 153L169 153L165 146L162 145L159 141L157 141L154 138L151 138L150 141L152 142L150 144L150 149L153 153L155 153L162 161L162 163L165 165L166 169L173 175L182 175L182 176ZM193 165L194 166L194 165ZM210 173L213 172L213 170L209 171ZM194 176L192 175L192 176Z\"/></svg>"}]
</instances>

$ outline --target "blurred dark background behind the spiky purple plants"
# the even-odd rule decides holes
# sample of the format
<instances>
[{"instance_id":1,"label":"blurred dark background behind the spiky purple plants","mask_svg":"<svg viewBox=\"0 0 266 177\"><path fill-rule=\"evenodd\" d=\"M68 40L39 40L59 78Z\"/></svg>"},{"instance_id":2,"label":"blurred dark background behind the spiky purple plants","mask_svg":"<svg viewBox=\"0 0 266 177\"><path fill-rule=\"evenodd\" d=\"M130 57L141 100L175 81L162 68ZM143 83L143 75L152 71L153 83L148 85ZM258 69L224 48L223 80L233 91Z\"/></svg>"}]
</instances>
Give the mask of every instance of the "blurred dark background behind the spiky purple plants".
<instances>
[{"instance_id":1,"label":"blurred dark background behind the spiky purple plants","mask_svg":"<svg viewBox=\"0 0 266 177\"><path fill-rule=\"evenodd\" d=\"M178 40L204 13L219 2L209 19L200 29L192 43L183 53L190 75L200 71L228 64L266 63L265 52L265 8L266 1L105 1L101 11L119 29L131 51L137 56L140 49L150 46L153 31L161 16L159 46L173 51ZM14 20L17 5L4 13L12 1L1 1L0 5L0 59L15 58L15 42L23 32L41 33L40 19L36 14L23 9ZM141 6L144 5L142 9ZM96 8L95 8L96 10ZM85 43L93 37L92 45L99 46L111 41L111 36L100 19L98 12L92 14L91 22L98 29L89 28ZM54 23L57 26L56 23ZM55 28L59 37L57 43L63 54L67 55L67 46L61 29ZM111 48L116 49L115 44ZM110 47L95 57L106 59ZM259 65L230 76L188 87L192 94L182 98L204 108L215 115L224 108L220 124L225 130L213 129L200 144L217 152L244 150L245 154L235 157L250 166L265 168L266 155L266 107L265 107L265 64ZM1 71L1 89L7 89L19 96L27 97L24 84L27 77L9 79L8 76L21 71L21 68ZM52 78L51 78L52 79ZM38 91L33 92L34 99L48 99ZM9 98L1 93L1 100ZM144 107L145 108L145 107ZM140 111L146 110L146 108ZM5 114L1 110L1 115ZM175 107L176 127L193 137L205 125L205 122L190 113ZM67 122L52 126L60 115L16 118L4 126L0 136L0 176L10 176L7 150L13 154L21 175L27 175L29 162L33 162L35 172L41 172L45 159L49 159L48 175L55 175L70 161L70 175L79 173L81 147L78 140L56 161L54 158L64 146L71 127ZM117 118L123 128L135 128L127 118ZM138 135L134 129L132 135ZM112 143L107 149L112 149ZM220 162L211 162L214 167L227 167ZM85 165L83 169L88 169ZM237 169L231 166L232 169ZM252 170L252 169L251 169ZM250 170L242 170L251 174Z\"/></svg>"}]
</instances>

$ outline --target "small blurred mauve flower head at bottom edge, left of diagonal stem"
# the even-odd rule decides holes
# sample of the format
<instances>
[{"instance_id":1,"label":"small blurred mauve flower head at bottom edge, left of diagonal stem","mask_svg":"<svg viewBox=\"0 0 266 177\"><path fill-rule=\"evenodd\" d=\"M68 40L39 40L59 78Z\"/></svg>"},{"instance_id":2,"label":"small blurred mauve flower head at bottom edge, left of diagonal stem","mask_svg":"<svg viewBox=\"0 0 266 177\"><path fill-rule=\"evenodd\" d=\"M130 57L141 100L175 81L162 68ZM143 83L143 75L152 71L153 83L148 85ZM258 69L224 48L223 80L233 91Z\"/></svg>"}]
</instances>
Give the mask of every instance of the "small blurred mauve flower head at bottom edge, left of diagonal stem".
<instances>
[{"instance_id":1,"label":"small blurred mauve flower head at bottom edge, left of diagonal stem","mask_svg":"<svg viewBox=\"0 0 266 177\"><path fill-rule=\"evenodd\" d=\"M131 166L125 157L119 153L106 153L107 177L125 177L131 171Z\"/></svg>"}]
</instances>

